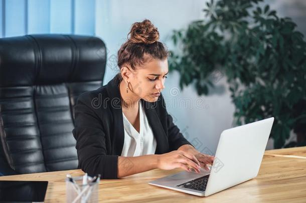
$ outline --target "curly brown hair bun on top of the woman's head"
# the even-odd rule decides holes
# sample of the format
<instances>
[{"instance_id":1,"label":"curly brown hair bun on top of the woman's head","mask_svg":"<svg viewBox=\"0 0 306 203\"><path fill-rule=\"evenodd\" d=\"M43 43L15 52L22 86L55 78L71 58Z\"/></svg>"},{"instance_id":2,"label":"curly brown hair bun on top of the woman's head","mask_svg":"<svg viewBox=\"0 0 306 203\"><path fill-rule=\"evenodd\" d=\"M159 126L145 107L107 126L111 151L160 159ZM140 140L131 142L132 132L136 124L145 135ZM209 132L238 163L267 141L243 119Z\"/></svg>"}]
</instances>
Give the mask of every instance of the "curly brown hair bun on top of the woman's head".
<instances>
[{"instance_id":1,"label":"curly brown hair bun on top of the woman's head","mask_svg":"<svg viewBox=\"0 0 306 203\"><path fill-rule=\"evenodd\" d=\"M152 44L160 39L159 31L149 20L134 23L128 35L132 43Z\"/></svg>"}]
</instances>

